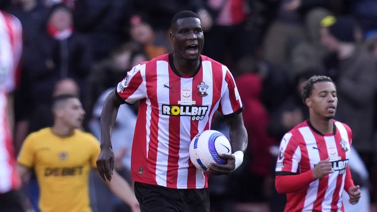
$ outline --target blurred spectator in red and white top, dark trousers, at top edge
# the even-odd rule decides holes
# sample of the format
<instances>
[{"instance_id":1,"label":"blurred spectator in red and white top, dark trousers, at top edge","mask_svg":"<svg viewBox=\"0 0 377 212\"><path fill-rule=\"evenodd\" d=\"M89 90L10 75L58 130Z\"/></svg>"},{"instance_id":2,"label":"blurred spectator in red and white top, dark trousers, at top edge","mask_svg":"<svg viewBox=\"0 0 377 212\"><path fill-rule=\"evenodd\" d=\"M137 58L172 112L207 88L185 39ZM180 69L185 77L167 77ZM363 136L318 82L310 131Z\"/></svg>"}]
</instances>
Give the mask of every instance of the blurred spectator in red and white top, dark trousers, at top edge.
<instances>
[{"instance_id":1,"label":"blurred spectator in red and white top, dark trousers, at top edge","mask_svg":"<svg viewBox=\"0 0 377 212\"><path fill-rule=\"evenodd\" d=\"M205 6L213 19L206 32L206 55L234 68L242 56L255 54L255 37L247 27L247 0L206 0Z\"/></svg>"}]
</instances>

